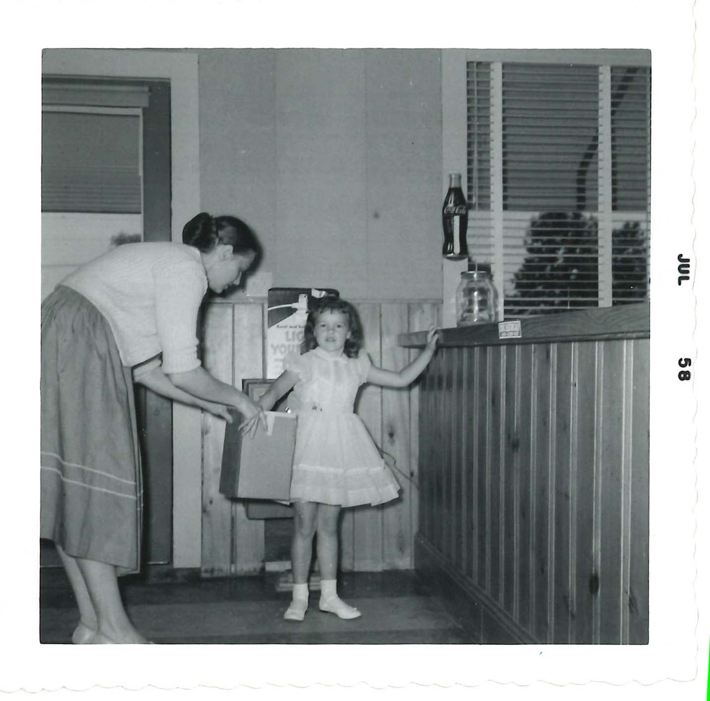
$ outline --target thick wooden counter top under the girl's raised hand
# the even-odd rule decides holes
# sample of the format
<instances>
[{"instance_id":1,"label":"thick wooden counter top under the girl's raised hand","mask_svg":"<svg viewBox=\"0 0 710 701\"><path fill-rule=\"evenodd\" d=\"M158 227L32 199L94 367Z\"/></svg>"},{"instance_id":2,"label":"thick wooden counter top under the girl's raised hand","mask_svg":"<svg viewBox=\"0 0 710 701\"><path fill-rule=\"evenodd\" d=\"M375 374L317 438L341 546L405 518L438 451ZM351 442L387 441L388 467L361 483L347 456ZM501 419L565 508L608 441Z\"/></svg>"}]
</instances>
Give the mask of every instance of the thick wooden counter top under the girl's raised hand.
<instances>
[{"instance_id":1,"label":"thick wooden counter top under the girl's raised hand","mask_svg":"<svg viewBox=\"0 0 710 701\"><path fill-rule=\"evenodd\" d=\"M514 321L515 319L506 319ZM598 341L608 338L649 338L650 304L621 304L557 314L523 316L520 338L498 338L498 324L476 324L439 329L439 346L510 346L545 341ZM400 333L397 342L404 348L423 348L425 331Z\"/></svg>"}]
</instances>

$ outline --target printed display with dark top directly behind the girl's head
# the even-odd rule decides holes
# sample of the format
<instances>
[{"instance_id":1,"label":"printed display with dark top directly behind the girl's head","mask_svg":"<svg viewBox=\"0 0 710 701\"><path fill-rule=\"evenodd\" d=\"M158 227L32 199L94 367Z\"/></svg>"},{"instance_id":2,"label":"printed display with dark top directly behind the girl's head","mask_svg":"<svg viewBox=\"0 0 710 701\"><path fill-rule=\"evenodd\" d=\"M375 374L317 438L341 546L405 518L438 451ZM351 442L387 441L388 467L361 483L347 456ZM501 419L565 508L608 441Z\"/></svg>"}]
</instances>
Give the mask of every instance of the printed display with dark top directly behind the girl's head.
<instances>
[{"instance_id":1,"label":"printed display with dark top directly behind the girl's head","mask_svg":"<svg viewBox=\"0 0 710 701\"><path fill-rule=\"evenodd\" d=\"M266 312L266 377L283 372L286 353L299 353L309 309L327 294L338 297L337 289L315 287L271 287Z\"/></svg>"}]
</instances>

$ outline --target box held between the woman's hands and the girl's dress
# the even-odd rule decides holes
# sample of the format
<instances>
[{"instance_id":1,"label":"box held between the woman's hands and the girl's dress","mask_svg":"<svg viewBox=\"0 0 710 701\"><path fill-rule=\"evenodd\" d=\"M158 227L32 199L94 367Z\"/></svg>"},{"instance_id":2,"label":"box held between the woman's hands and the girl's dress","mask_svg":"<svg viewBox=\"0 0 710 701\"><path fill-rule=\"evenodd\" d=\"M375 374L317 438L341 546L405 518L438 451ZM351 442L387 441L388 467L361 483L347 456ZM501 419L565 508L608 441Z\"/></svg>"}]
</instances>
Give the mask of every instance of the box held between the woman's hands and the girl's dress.
<instances>
[{"instance_id":1,"label":"box held between the woman's hands and the girl's dress","mask_svg":"<svg viewBox=\"0 0 710 701\"><path fill-rule=\"evenodd\" d=\"M239 414L226 425L219 477L219 492L225 497L290 498L297 416L265 413L268 430L259 427L254 436L239 433Z\"/></svg>"}]
</instances>

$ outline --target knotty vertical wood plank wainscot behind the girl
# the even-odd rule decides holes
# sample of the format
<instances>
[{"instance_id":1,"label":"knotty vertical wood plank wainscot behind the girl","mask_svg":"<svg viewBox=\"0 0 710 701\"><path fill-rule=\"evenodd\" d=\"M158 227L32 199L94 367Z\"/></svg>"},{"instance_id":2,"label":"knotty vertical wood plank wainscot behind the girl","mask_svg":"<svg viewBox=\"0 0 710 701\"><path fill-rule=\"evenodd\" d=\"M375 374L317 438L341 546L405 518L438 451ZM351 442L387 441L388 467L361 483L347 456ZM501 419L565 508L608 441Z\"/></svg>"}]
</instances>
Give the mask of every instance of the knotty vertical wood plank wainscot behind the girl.
<instances>
[{"instance_id":1,"label":"knotty vertical wood plank wainscot behind the girl","mask_svg":"<svg viewBox=\"0 0 710 701\"><path fill-rule=\"evenodd\" d=\"M265 305L261 302L205 304L201 343L204 366L241 388L247 377L263 377ZM398 346L400 333L440 324L441 303L356 303L373 363L399 370L419 351ZM406 390L366 386L356 411L381 450L395 459L400 498L378 507L343 509L340 565L345 571L413 567L418 521L419 384ZM224 421L202 415L202 576L256 574L264 565L264 522L248 519L244 503L219 494Z\"/></svg>"}]
</instances>

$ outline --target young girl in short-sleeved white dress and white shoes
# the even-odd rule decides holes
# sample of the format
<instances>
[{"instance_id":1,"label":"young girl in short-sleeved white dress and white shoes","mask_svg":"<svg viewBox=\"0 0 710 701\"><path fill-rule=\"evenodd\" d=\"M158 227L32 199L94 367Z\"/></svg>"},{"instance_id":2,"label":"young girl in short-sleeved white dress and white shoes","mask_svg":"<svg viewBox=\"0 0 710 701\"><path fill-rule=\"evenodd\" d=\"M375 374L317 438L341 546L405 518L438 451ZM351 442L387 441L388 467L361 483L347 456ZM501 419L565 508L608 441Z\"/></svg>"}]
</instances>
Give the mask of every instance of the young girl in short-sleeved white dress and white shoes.
<instances>
[{"instance_id":1,"label":"young girl in short-sleeved white dress and white shoes","mask_svg":"<svg viewBox=\"0 0 710 701\"><path fill-rule=\"evenodd\" d=\"M371 365L362 349L363 333L356 309L338 297L325 297L308 315L303 355L291 353L284 372L259 402L268 411L295 387L288 407L298 414L291 480L295 502L291 566L293 600L284 614L302 621L308 608L308 571L312 540L317 537L320 563L320 609L351 619L358 609L337 595L338 515L341 507L383 504L398 495L399 485L368 434L353 404L364 382L406 387L434 355L437 334L427 335L422 353L399 372Z\"/></svg>"}]
</instances>

